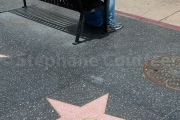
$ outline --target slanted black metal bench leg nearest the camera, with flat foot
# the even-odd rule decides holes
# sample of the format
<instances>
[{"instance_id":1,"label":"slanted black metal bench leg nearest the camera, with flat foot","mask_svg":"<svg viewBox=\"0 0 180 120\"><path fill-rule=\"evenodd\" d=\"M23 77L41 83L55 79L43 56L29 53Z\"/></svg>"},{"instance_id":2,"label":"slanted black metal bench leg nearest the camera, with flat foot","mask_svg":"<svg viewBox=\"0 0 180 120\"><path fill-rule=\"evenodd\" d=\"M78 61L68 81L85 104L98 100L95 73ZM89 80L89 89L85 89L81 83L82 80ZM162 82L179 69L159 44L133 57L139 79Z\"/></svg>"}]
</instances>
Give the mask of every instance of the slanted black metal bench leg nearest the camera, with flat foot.
<instances>
[{"instance_id":1,"label":"slanted black metal bench leg nearest the camera, with flat foot","mask_svg":"<svg viewBox=\"0 0 180 120\"><path fill-rule=\"evenodd\" d=\"M83 19L84 19L84 14L80 13L80 18L79 18L79 24L78 24L78 30L77 30L77 34L76 34L76 40L73 43L73 45L77 45L79 43L81 43L81 41L79 41L79 37L81 35L81 29L82 29L82 25L83 25Z\"/></svg>"}]
</instances>

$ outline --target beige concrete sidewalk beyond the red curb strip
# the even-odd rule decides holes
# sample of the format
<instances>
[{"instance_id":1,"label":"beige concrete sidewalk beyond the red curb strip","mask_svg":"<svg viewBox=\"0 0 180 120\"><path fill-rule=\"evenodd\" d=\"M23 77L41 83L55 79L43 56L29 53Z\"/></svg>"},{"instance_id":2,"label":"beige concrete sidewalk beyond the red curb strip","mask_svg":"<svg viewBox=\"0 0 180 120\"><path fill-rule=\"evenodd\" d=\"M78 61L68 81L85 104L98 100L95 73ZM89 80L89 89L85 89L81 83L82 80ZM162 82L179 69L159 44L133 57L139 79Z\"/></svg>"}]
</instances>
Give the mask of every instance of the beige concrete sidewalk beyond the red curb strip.
<instances>
[{"instance_id":1,"label":"beige concrete sidewalk beyond the red curb strip","mask_svg":"<svg viewBox=\"0 0 180 120\"><path fill-rule=\"evenodd\" d=\"M117 0L116 10L180 27L180 0Z\"/></svg>"}]
</instances>

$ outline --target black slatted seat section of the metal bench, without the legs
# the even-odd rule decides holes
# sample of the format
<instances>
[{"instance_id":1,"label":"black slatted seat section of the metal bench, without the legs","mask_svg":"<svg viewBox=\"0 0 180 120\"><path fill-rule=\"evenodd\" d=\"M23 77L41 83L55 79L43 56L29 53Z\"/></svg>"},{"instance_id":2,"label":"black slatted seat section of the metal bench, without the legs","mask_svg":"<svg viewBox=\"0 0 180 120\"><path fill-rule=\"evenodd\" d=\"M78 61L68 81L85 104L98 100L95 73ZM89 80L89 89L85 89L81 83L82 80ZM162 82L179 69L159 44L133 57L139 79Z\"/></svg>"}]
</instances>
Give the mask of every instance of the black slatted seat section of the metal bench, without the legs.
<instances>
[{"instance_id":1,"label":"black slatted seat section of the metal bench, without the legs","mask_svg":"<svg viewBox=\"0 0 180 120\"><path fill-rule=\"evenodd\" d=\"M79 12L82 12L83 10L80 0L40 0L40 1L48 2L57 6L61 6Z\"/></svg>"}]
</instances>

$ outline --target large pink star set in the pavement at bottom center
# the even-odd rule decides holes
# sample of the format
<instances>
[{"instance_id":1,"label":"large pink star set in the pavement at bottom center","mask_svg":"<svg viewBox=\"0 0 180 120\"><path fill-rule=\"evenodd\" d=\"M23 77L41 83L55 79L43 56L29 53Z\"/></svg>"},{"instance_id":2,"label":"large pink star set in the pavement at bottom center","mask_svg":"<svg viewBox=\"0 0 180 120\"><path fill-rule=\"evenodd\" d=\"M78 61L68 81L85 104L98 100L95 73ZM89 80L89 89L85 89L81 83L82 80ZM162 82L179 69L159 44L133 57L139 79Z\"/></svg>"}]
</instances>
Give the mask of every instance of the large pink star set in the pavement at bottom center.
<instances>
[{"instance_id":1,"label":"large pink star set in the pavement at bottom center","mask_svg":"<svg viewBox=\"0 0 180 120\"><path fill-rule=\"evenodd\" d=\"M58 120L123 120L105 114L108 94L82 106L75 106L47 98L61 116Z\"/></svg>"}]
</instances>

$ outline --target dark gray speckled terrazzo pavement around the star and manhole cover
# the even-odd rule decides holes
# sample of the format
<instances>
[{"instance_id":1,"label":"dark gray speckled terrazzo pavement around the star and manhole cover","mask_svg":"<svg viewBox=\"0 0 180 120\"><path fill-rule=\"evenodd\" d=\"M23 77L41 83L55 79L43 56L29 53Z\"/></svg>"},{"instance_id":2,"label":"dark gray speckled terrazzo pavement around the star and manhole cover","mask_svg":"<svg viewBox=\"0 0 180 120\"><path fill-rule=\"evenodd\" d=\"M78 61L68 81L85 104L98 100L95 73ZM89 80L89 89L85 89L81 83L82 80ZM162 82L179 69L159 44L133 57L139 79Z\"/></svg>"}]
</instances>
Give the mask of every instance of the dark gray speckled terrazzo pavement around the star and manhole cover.
<instances>
[{"instance_id":1,"label":"dark gray speckled terrazzo pavement around the star and manhole cover","mask_svg":"<svg viewBox=\"0 0 180 120\"><path fill-rule=\"evenodd\" d=\"M0 11L22 1L0 0ZM39 1L29 6L77 21L79 14ZM109 93L106 114L126 120L180 120L180 93L143 76L154 57L180 53L180 32L116 15L125 27L76 46L75 35L10 12L0 14L0 120L56 120L47 97L83 106ZM77 25L77 24L76 24ZM77 26L72 29L75 29Z\"/></svg>"}]
</instances>

